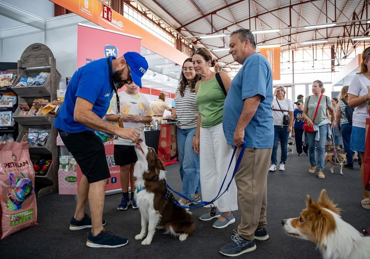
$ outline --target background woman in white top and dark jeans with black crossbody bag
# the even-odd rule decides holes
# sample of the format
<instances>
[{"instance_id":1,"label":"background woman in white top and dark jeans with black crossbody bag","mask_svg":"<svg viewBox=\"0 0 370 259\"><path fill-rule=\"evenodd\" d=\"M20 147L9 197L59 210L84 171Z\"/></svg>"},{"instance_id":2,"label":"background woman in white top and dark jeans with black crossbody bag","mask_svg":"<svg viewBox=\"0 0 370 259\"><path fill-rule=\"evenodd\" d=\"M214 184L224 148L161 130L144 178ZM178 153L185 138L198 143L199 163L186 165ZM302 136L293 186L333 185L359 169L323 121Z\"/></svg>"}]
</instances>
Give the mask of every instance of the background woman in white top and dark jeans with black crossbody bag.
<instances>
[{"instance_id":1,"label":"background woman in white top and dark jeans with black crossbody bag","mask_svg":"<svg viewBox=\"0 0 370 259\"><path fill-rule=\"evenodd\" d=\"M285 162L287 158L287 144L289 132L292 131L292 124L294 120L293 103L291 100L285 98L285 88L282 85L276 87L273 94L272 115L274 117L274 145L271 154L271 166L269 171L276 171L277 163L277 146L280 139L281 157L280 157L280 171L285 171Z\"/></svg>"}]
</instances>

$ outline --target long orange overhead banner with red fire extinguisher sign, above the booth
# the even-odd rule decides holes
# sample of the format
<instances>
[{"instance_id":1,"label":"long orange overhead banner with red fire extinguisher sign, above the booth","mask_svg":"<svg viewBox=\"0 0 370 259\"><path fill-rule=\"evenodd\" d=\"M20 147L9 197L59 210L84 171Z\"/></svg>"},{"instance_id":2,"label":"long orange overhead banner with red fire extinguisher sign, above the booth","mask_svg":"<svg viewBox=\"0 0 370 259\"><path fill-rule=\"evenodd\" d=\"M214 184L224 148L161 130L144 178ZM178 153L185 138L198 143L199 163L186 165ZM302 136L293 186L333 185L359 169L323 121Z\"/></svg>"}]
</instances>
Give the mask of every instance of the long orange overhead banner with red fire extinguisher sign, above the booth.
<instances>
[{"instance_id":1,"label":"long orange overhead banner with red fire extinguisher sign, above the booth","mask_svg":"<svg viewBox=\"0 0 370 259\"><path fill-rule=\"evenodd\" d=\"M187 55L169 46L158 37L105 6L98 0L51 0L53 3L100 25L103 28L141 37L141 46L177 64L182 64ZM105 8L103 8L103 6ZM103 10L104 9L104 10Z\"/></svg>"}]
</instances>

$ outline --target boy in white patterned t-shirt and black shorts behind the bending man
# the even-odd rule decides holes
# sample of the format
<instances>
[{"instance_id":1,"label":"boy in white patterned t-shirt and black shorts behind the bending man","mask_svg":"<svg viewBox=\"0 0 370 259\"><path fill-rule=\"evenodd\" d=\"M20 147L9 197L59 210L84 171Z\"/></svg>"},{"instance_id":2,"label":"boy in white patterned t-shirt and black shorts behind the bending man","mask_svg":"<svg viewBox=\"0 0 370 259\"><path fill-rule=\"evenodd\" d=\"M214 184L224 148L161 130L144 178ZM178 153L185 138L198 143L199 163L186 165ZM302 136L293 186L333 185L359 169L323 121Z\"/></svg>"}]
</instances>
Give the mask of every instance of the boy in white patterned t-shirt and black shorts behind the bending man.
<instances>
[{"instance_id":1,"label":"boy in white patterned t-shirt and black shorts behind the bending man","mask_svg":"<svg viewBox=\"0 0 370 259\"><path fill-rule=\"evenodd\" d=\"M148 99L144 94L137 91L138 86L134 83L126 84L127 90L118 92L120 98L120 113L125 128L134 128L140 132L140 138L145 141L144 123L152 121L152 109ZM117 98L113 95L107 115L108 121L113 121L118 127ZM114 139L114 160L115 164L120 166L120 179L122 186L122 200L118 205L118 210L127 209L131 203L132 208L136 209L137 205L134 200L135 181L134 166L137 162L135 152L135 143L129 139ZM131 183L131 199L128 196L128 183Z\"/></svg>"}]
</instances>

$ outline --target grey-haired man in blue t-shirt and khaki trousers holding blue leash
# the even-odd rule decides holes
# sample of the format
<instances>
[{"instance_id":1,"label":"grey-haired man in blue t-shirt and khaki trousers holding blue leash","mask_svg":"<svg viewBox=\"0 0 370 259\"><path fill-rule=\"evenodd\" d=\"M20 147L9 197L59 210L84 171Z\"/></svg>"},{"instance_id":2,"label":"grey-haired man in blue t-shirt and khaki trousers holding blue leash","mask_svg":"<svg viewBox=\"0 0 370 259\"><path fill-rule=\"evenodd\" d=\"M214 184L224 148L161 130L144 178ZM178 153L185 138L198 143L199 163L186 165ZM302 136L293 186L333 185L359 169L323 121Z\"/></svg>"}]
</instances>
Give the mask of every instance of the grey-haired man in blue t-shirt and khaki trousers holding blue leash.
<instances>
[{"instance_id":1,"label":"grey-haired man in blue t-shirt and khaki trousers holding blue leash","mask_svg":"<svg viewBox=\"0 0 370 259\"><path fill-rule=\"evenodd\" d=\"M254 239L266 240L267 173L274 140L272 71L265 57L256 53L255 37L248 29L233 31L229 41L234 61L242 64L231 81L223 106L223 131L231 146L246 149L235 175L242 218L232 242L220 253L238 256L256 249Z\"/></svg>"}]
</instances>

